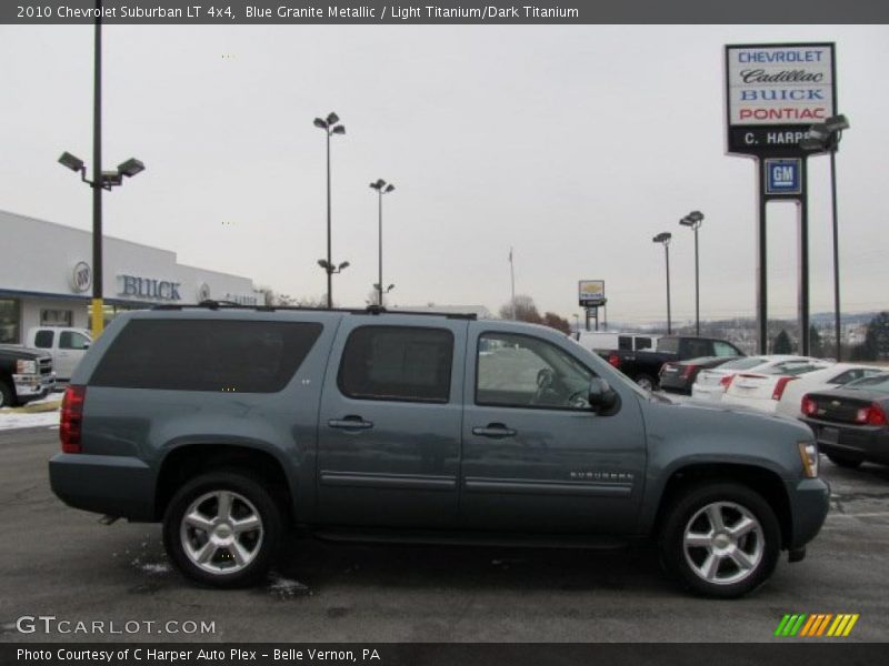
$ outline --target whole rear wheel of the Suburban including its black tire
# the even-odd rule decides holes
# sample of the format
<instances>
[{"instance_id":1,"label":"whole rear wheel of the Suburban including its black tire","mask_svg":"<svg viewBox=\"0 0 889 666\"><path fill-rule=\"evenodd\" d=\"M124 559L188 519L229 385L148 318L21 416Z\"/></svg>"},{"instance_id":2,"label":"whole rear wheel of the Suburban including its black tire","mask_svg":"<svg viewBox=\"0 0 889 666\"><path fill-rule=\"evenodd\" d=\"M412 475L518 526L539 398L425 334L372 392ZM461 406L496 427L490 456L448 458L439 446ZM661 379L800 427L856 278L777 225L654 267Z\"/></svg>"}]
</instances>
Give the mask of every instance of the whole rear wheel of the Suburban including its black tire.
<instances>
[{"instance_id":1,"label":"whole rear wheel of the Suburban including its black tire","mask_svg":"<svg viewBox=\"0 0 889 666\"><path fill-rule=\"evenodd\" d=\"M233 471L209 472L183 484L163 516L163 545L177 568L197 583L224 588L244 587L264 577L278 556L283 529L281 507L266 486L268 484L263 485L260 478ZM229 519L213 527L213 538L221 539L220 543L226 539L237 542L241 557L243 554L249 556L249 559L243 558L244 564L237 562L234 543L210 545L213 553L209 561L203 564L196 562L201 546L210 542L211 532L183 524L186 513L191 509L206 517L211 515L214 506L219 513L221 494L231 498L232 509ZM199 503L197 507L196 503ZM239 535L238 519L246 521L252 515L258 516L259 527ZM214 571L209 571L211 568Z\"/></svg>"}]
</instances>

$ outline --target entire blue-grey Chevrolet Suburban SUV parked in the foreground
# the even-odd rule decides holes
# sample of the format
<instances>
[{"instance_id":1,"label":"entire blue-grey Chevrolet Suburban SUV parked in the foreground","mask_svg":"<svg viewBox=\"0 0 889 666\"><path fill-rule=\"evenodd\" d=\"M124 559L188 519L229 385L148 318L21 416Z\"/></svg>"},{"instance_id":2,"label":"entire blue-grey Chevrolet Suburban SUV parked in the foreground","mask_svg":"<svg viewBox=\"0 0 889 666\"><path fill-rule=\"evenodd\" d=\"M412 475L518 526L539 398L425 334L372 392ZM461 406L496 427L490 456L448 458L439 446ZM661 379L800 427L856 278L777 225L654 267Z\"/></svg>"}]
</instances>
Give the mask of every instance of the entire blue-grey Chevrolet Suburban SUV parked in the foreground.
<instances>
[{"instance_id":1,"label":"entire blue-grey Chevrolet Suburban SUV parked in the foreground","mask_svg":"<svg viewBox=\"0 0 889 666\"><path fill-rule=\"evenodd\" d=\"M687 587L735 597L782 549L801 559L828 511L801 423L675 404L532 324L167 306L116 317L71 380L53 492L106 523L162 522L176 566L220 587L263 576L299 526L649 541Z\"/></svg>"}]
</instances>

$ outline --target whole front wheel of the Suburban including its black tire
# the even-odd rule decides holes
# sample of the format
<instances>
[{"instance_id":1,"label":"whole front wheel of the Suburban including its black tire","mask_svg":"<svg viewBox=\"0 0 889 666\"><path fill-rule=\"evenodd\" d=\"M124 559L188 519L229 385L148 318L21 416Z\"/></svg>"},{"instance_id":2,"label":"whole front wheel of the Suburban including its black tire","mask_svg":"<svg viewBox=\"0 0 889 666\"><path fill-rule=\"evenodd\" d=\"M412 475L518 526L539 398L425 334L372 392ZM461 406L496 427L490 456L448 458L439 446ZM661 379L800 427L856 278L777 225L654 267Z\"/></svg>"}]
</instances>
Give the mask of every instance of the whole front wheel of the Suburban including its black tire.
<instances>
[{"instance_id":1,"label":"whole front wheel of the Suburban including its black tire","mask_svg":"<svg viewBox=\"0 0 889 666\"><path fill-rule=\"evenodd\" d=\"M707 507L721 515L726 527L738 527L741 519L755 519L757 527L732 541L723 533L719 541L707 546L686 548L686 531L693 537L712 529ZM746 513L743 513L746 512ZM738 521L733 517L737 516ZM747 523L749 524L749 523ZM709 525L710 529L703 529ZM713 549L715 548L715 549ZM733 555L726 555L733 548ZM775 571L781 552L781 528L775 512L762 496L751 488L731 482L703 482L686 490L668 507L660 533L660 555L667 572L683 587L717 598L742 596L765 583ZM705 577L708 558L713 555L712 577ZM750 566L745 569L733 557L743 557ZM700 573L699 573L700 571Z\"/></svg>"}]
</instances>

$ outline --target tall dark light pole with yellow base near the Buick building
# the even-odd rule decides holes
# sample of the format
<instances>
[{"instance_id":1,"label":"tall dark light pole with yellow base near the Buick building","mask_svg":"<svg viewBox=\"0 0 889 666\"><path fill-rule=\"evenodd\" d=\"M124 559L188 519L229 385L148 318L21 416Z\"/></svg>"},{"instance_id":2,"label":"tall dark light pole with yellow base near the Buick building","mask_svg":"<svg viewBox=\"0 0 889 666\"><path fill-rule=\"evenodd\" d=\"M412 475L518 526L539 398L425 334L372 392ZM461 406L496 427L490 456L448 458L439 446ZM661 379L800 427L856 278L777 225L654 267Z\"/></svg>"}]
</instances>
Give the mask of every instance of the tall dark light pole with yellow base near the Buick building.
<instances>
[{"instance_id":1,"label":"tall dark light pole with yellow base near the Buick building","mask_svg":"<svg viewBox=\"0 0 889 666\"><path fill-rule=\"evenodd\" d=\"M83 160L69 152L62 153L59 162L72 171L80 172L80 179L92 188L92 339L97 340L104 329L104 297L102 274L102 190L111 190L130 178L144 171L146 165L131 158L118 165L117 171L102 171L102 2L96 0L96 38L93 42L92 83L92 180L87 179Z\"/></svg>"}]
</instances>

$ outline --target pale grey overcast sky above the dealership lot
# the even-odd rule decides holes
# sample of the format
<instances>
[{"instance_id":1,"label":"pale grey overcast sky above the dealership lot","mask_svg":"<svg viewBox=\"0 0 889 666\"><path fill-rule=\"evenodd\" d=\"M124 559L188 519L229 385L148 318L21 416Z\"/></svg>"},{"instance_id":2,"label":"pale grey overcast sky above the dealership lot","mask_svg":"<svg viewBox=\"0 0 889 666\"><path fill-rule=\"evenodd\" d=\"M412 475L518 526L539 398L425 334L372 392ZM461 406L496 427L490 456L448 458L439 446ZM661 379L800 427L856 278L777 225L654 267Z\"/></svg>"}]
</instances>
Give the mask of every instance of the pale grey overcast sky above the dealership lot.
<instances>
[{"instance_id":1,"label":"pale grey overcast sky above the dealership lot","mask_svg":"<svg viewBox=\"0 0 889 666\"><path fill-rule=\"evenodd\" d=\"M104 167L147 171L106 195L106 233L179 262L320 296L324 137L333 139L334 299L377 281L400 305L482 304L510 292L570 317L577 281L602 279L609 320L693 317L693 209L701 316L755 313L755 163L727 157L722 47L836 41L847 311L889 307L886 26L236 26L104 28ZM91 27L0 26L0 208L90 229ZM812 312L832 311L829 160L810 160ZM770 209L770 315L796 316L796 211ZM2 239L0 239L2 243ZM38 256L39 254L36 254ZM20 258L30 261L32 258ZM16 261L3 256L3 261Z\"/></svg>"}]
</instances>

